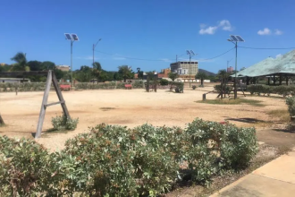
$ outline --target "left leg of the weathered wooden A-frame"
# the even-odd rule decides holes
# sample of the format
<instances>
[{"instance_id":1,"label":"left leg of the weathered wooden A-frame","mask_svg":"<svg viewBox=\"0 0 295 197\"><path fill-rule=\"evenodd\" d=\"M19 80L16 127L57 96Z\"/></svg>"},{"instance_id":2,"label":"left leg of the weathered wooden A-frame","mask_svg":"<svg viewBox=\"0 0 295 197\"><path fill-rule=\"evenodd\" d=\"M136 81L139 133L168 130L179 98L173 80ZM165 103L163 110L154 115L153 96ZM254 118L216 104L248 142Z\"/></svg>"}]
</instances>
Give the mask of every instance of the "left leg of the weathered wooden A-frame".
<instances>
[{"instance_id":1,"label":"left leg of the weathered wooden A-frame","mask_svg":"<svg viewBox=\"0 0 295 197\"><path fill-rule=\"evenodd\" d=\"M41 136L42 127L43 127L44 118L45 118L45 111L46 111L45 105L47 104L51 81L52 81L52 71L48 71L47 80L46 80L46 88L44 90L44 95L43 95L41 110L40 110L40 114L39 114L37 132L35 135L35 139L38 139Z\"/></svg>"}]
</instances>

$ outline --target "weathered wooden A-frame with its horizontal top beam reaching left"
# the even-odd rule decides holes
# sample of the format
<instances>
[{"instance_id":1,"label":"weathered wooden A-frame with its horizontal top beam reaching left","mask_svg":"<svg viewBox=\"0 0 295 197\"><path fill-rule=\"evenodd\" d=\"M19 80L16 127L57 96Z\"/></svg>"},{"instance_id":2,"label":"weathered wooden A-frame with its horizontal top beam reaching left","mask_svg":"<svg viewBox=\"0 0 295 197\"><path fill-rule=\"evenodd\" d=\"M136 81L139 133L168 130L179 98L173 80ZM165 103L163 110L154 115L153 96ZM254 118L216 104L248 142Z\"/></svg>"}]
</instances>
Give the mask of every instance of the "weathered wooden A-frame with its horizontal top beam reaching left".
<instances>
[{"instance_id":1,"label":"weathered wooden A-frame with its horizontal top beam reaching left","mask_svg":"<svg viewBox=\"0 0 295 197\"><path fill-rule=\"evenodd\" d=\"M41 104L41 109L40 109L40 114L38 117L38 125L37 125L37 132L35 134L35 139L38 139L41 136L42 133L42 127L44 123L44 118L46 114L46 107L54 106L61 104L63 108L63 115L66 116L67 118L71 118L68 108L65 105L65 101L63 99L63 94L62 91L60 90L60 87L58 86L58 82L55 77L55 73L51 70L49 71L40 71L40 72L5 72L5 73L0 73L0 76L14 76L14 77L20 77L20 76L25 76L25 75L41 75L41 76L46 76L47 74L47 80L46 80L46 88L44 90L44 95L43 95L43 100ZM55 92L57 94L57 97L59 99L58 102L54 103L47 103L48 96L49 96L49 91L51 84L54 85L55 87Z\"/></svg>"}]
</instances>

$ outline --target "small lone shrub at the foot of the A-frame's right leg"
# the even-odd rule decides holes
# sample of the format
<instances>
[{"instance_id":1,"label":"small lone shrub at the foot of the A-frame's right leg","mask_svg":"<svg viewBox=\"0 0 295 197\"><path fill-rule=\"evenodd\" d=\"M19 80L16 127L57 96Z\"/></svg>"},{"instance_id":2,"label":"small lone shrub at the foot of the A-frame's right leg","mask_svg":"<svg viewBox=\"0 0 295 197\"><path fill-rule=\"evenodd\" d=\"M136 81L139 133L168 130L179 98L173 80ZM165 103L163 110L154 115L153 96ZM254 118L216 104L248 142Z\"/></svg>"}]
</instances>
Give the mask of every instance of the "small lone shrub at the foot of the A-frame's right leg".
<instances>
[{"instance_id":1,"label":"small lone shrub at the foot of the A-frame's right leg","mask_svg":"<svg viewBox=\"0 0 295 197\"><path fill-rule=\"evenodd\" d=\"M51 123L54 126L54 129L57 131L70 130L73 131L77 128L77 124L79 123L79 118L72 119L67 118L66 116L55 116L52 117Z\"/></svg>"}]
</instances>

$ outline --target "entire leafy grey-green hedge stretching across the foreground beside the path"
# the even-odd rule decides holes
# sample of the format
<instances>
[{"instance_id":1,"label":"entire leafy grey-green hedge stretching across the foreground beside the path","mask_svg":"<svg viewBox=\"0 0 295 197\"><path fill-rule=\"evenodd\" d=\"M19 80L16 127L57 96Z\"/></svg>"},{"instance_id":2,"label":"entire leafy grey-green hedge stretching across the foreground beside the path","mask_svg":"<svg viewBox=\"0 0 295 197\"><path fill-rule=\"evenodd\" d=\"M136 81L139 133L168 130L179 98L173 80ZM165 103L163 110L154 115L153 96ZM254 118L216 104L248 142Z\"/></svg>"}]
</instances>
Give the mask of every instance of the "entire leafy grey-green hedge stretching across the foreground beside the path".
<instances>
[{"instance_id":1,"label":"entire leafy grey-green hedge stretching across the foreground beside the path","mask_svg":"<svg viewBox=\"0 0 295 197\"><path fill-rule=\"evenodd\" d=\"M183 177L209 184L247 167L257 153L254 128L201 119L185 129L99 124L54 153L34 141L0 142L4 196L159 196Z\"/></svg>"}]
</instances>

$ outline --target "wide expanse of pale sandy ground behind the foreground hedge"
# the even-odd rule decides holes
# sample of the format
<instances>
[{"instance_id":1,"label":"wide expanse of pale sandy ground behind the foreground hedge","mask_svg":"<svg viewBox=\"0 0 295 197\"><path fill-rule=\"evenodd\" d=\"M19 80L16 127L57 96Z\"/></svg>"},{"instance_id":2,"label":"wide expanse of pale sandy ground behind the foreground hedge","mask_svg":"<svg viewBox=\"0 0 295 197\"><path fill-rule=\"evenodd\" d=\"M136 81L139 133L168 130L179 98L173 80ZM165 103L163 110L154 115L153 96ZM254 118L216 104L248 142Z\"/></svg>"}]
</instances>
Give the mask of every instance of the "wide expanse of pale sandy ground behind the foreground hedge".
<instances>
[{"instance_id":1,"label":"wide expanse of pale sandy ground behind the foreground hedge","mask_svg":"<svg viewBox=\"0 0 295 197\"><path fill-rule=\"evenodd\" d=\"M38 141L51 150L63 149L64 141L77 133L88 132L89 126L96 124L121 124L134 127L140 124L157 126L181 126L190 123L196 117L210 121L230 119L232 124L252 126L244 121L252 118L257 121L275 122L276 118L265 112L286 108L284 99L266 97L247 97L262 100L265 107L242 105L210 105L196 103L202 94L213 90L212 85L203 89L185 89L183 94L168 90L145 92L144 90L76 90L63 92L63 98L72 117L79 117L80 123L75 131L69 133L50 133ZM43 92L0 93L0 113L4 118L4 127L0 134L11 137L33 138L36 132L38 114ZM239 97L242 97L241 95ZM207 94L207 99L215 99L216 94ZM55 92L50 92L48 103L57 101ZM47 107L43 131L52 128L51 118L62 114L59 105ZM257 124L258 128L265 126Z\"/></svg>"}]
</instances>

